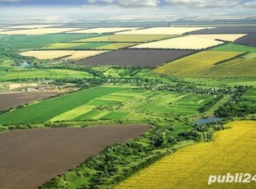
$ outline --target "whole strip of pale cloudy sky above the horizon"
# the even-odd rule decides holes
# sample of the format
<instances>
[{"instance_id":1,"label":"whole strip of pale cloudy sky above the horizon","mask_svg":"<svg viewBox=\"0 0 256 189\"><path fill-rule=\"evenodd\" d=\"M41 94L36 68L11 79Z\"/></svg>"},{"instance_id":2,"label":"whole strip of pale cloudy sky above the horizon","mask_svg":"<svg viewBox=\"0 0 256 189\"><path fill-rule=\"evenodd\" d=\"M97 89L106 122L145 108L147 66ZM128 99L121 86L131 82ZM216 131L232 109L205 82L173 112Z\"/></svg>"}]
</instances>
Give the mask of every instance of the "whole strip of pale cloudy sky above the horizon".
<instances>
[{"instance_id":1,"label":"whole strip of pale cloudy sky above the horizon","mask_svg":"<svg viewBox=\"0 0 256 189\"><path fill-rule=\"evenodd\" d=\"M256 0L0 0L0 16L84 16L94 19L253 15Z\"/></svg>"}]
</instances>

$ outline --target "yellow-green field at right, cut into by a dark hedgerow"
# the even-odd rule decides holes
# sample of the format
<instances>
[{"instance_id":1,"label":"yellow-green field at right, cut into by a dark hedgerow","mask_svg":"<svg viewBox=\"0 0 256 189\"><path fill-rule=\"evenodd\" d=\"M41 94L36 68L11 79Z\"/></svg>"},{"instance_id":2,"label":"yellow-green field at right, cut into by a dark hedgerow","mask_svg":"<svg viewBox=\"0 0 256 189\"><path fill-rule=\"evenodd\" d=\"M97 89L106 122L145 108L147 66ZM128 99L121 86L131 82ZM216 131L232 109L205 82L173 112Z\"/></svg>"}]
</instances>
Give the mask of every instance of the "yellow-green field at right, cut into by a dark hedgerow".
<instances>
[{"instance_id":1,"label":"yellow-green field at right, cut into by a dark hedgerow","mask_svg":"<svg viewBox=\"0 0 256 189\"><path fill-rule=\"evenodd\" d=\"M156 68L154 73L187 77L255 76L254 60L235 58L240 53L203 51L186 58L168 62L164 66ZM230 58L235 59L228 61Z\"/></svg>"}]
</instances>

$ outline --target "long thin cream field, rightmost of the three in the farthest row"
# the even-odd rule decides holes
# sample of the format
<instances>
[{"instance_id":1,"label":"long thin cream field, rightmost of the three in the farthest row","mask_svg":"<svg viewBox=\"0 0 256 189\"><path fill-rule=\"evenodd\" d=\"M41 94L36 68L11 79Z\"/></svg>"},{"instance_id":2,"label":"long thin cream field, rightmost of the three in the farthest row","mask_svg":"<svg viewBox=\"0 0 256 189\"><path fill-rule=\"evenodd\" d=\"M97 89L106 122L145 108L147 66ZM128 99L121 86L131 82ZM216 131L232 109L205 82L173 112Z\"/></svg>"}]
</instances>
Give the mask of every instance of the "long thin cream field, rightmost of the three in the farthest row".
<instances>
[{"instance_id":1,"label":"long thin cream field, rightmost of the three in the farthest row","mask_svg":"<svg viewBox=\"0 0 256 189\"><path fill-rule=\"evenodd\" d=\"M190 31L211 28L213 27L154 27L142 30L118 32L118 35L182 35Z\"/></svg>"}]
</instances>

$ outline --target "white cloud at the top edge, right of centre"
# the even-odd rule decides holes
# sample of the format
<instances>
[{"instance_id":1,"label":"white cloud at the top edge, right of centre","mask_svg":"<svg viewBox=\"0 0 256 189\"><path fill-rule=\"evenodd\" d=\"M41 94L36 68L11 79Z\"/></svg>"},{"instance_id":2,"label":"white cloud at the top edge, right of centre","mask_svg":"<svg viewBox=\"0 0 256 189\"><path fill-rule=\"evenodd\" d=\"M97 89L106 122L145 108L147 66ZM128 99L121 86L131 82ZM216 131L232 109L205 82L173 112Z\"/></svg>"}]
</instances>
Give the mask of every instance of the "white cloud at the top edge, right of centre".
<instances>
[{"instance_id":1,"label":"white cloud at the top edge, right of centre","mask_svg":"<svg viewBox=\"0 0 256 189\"><path fill-rule=\"evenodd\" d=\"M179 7L235 7L239 0L165 0L168 5Z\"/></svg>"}]
</instances>

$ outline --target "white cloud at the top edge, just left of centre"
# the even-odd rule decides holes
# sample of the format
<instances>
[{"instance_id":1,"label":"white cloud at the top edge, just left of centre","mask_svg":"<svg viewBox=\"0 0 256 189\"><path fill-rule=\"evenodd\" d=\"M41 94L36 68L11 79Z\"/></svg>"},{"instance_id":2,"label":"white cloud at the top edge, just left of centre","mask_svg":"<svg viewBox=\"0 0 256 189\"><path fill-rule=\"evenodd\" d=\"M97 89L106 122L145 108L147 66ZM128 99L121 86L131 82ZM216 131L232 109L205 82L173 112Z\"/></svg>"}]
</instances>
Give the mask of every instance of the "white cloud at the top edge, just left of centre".
<instances>
[{"instance_id":1,"label":"white cloud at the top edge, just left of centre","mask_svg":"<svg viewBox=\"0 0 256 189\"><path fill-rule=\"evenodd\" d=\"M159 0L87 0L91 5L116 5L118 7L158 7Z\"/></svg>"}]
</instances>

